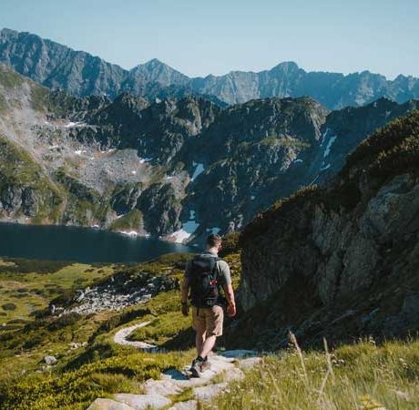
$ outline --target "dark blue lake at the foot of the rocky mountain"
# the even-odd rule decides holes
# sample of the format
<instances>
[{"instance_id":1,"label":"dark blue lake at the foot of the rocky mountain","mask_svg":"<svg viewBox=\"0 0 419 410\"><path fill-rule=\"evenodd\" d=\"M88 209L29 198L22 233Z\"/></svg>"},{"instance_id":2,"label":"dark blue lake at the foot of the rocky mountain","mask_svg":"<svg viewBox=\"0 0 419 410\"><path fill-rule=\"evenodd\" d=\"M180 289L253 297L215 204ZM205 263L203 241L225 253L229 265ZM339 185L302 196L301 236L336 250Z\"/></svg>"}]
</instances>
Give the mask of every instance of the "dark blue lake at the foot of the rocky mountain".
<instances>
[{"instance_id":1,"label":"dark blue lake at the foot of the rocky mountain","mask_svg":"<svg viewBox=\"0 0 419 410\"><path fill-rule=\"evenodd\" d=\"M89 228L0 223L0 256L80 262L149 261L193 251L179 243Z\"/></svg>"}]
</instances>

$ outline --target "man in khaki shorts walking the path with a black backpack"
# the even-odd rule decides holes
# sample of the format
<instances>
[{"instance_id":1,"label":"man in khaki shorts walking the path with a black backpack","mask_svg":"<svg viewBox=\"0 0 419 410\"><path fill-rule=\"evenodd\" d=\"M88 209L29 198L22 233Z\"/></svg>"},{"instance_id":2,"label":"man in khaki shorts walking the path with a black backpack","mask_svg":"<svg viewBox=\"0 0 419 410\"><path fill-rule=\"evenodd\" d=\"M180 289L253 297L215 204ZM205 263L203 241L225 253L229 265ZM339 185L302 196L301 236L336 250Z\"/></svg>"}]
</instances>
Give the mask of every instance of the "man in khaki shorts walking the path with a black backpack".
<instances>
[{"instance_id":1,"label":"man in khaki shorts walking the path with a black backpack","mask_svg":"<svg viewBox=\"0 0 419 410\"><path fill-rule=\"evenodd\" d=\"M210 368L208 354L222 334L223 306L227 298L227 314L236 314L234 292L231 286L230 267L218 257L221 237L211 234L207 238L206 251L188 261L181 286L182 313L189 315L188 293L192 305L192 323L196 332L195 344L198 356L193 360L190 373L199 373ZM226 298L220 295L222 287Z\"/></svg>"}]
</instances>

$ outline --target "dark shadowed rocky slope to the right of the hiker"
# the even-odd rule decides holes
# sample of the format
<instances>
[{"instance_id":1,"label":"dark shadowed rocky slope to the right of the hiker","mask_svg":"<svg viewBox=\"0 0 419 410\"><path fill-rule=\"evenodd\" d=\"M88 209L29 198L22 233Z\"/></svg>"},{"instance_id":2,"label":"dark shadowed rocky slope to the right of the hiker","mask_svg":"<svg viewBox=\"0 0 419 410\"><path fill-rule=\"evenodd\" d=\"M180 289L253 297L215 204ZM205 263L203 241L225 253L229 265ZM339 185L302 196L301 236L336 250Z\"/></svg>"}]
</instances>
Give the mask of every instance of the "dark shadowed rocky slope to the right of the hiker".
<instances>
[{"instance_id":1,"label":"dark shadowed rocky slope to the right of the hiker","mask_svg":"<svg viewBox=\"0 0 419 410\"><path fill-rule=\"evenodd\" d=\"M239 333L271 349L290 330L319 345L417 333L418 164L416 110L364 140L330 186L252 220L240 236Z\"/></svg>"}]
</instances>

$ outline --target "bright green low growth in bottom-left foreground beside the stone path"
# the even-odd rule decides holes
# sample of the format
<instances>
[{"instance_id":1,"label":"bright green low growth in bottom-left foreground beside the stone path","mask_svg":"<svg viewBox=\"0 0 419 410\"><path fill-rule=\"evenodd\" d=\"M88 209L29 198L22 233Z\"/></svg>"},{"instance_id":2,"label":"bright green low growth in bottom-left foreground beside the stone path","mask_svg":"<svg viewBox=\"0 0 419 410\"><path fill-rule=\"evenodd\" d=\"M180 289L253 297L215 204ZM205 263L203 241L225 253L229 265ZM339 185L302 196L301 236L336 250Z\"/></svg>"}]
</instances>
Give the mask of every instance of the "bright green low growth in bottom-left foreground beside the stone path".
<instances>
[{"instance_id":1,"label":"bright green low growth in bottom-left foreground beside the stone path","mask_svg":"<svg viewBox=\"0 0 419 410\"><path fill-rule=\"evenodd\" d=\"M5 409L86 409L97 397L141 393L140 383L171 367L187 364L190 354L146 354L120 349L118 355L74 371L52 371L0 380Z\"/></svg>"}]
</instances>

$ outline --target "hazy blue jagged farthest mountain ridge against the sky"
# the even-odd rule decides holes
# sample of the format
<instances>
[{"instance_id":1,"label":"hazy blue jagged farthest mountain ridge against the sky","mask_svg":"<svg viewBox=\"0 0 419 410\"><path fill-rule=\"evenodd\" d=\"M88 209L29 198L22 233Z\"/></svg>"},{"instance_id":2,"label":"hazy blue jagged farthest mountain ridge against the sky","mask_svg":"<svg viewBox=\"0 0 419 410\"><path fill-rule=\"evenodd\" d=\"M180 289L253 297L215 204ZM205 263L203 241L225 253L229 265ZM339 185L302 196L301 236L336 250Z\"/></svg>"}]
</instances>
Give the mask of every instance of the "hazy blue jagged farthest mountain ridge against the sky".
<instances>
[{"instance_id":1,"label":"hazy blue jagged farthest mountain ridge against the sky","mask_svg":"<svg viewBox=\"0 0 419 410\"><path fill-rule=\"evenodd\" d=\"M419 97L415 77L400 75L391 81L369 71L347 76L306 72L293 62L259 73L232 71L220 77L190 78L157 59L128 71L83 51L7 28L0 32L0 62L46 87L62 88L77 97L114 98L127 91L150 101L203 95L216 103L237 104L255 98L309 96L329 109L360 107L380 97L398 103Z\"/></svg>"}]
</instances>

